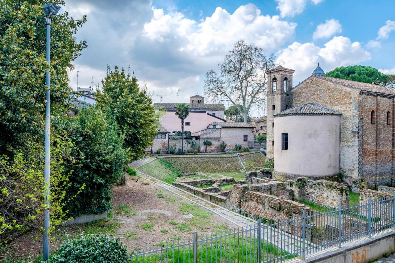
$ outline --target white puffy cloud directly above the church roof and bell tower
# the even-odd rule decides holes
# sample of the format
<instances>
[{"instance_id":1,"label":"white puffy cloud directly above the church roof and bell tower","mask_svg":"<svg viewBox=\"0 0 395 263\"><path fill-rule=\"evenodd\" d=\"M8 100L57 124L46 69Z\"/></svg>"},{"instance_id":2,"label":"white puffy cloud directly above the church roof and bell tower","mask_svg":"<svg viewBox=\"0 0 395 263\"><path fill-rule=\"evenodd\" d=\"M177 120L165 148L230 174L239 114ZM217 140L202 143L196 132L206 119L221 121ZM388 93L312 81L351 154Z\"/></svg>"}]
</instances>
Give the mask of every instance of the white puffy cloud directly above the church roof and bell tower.
<instances>
[{"instance_id":1,"label":"white puffy cloud directly above the church roof and bell tower","mask_svg":"<svg viewBox=\"0 0 395 263\"><path fill-rule=\"evenodd\" d=\"M284 66L295 69L294 85L311 75L317 62L320 62L321 68L328 72L340 66L357 64L371 58L371 54L363 49L361 43L351 42L349 38L343 36L333 37L324 46L294 42L278 52L278 59L284 61Z\"/></svg>"}]
</instances>

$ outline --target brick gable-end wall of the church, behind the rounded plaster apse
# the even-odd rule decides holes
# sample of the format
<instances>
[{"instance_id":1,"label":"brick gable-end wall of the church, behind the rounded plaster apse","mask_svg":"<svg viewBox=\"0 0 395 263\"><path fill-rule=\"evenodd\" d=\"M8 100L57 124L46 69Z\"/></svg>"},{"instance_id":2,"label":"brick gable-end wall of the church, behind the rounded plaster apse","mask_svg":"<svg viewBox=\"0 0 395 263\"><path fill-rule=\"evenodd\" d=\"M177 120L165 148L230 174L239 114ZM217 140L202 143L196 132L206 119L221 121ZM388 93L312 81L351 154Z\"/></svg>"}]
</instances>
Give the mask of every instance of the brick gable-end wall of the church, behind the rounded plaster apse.
<instances>
[{"instance_id":1,"label":"brick gable-end wall of the church, behind the rounded plaster apse","mask_svg":"<svg viewBox=\"0 0 395 263\"><path fill-rule=\"evenodd\" d=\"M340 173L352 185L358 176L359 90L308 78L292 90L292 107L314 102L342 113L340 120Z\"/></svg>"}]
</instances>

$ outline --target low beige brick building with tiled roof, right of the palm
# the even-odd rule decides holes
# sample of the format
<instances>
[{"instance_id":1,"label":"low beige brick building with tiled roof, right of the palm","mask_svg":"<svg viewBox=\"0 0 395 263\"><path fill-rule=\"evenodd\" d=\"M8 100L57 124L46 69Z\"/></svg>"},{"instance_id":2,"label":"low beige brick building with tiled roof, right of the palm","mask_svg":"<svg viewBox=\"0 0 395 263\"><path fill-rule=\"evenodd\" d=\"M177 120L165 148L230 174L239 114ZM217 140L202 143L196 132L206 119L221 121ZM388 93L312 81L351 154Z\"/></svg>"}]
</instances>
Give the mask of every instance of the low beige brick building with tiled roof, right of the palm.
<instances>
[{"instance_id":1,"label":"low beige brick building with tiled roof, right of the palm","mask_svg":"<svg viewBox=\"0 0 395 263\"><path fill-rule=\"evenodd\" d=\"M211 141L207 152L220 152L220 143L226 142L226 150L234 150L239 144L242 148L254 140L254 125L247 122L213 122L207 129L192 133L192 137L199 140L200 152L205 152L203 142Z\"/></svg>"}]
</instances>

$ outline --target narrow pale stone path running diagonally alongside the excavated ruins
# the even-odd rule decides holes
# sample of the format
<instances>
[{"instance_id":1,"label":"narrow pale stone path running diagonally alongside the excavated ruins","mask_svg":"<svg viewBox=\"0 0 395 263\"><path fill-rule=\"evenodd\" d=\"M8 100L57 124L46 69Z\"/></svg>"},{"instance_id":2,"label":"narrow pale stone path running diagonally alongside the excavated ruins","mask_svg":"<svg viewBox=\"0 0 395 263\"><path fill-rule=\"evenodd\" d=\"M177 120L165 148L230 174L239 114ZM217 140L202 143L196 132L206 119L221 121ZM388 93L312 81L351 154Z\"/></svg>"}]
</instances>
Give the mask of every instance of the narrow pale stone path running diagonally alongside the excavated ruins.
<instances>
[{"instance_id":1,"label":"narrow pale stone path running diagonally alongside the excavated ruins","mask_svg":"<svg viewBox=\"0 0 395 263\"><path fill-rule=\"evenodd\" d=\"M134 163L130 164L130 167L137 169L138 167L141 167L149 162L152 162L156 158L154 156L150 156L148 158L144 158L142 160L136 161ZM166 190L173 192L185 199L188 199L189 201L192 201L193 203L200 205L201 207L204 207L211 212L218 214L222 218L225 218L229 222L232 222L235 225L238 225L241 228L246 229L247 227L250 228L251 226L254 227L254 225L257 224L256 221L247 218L245 216L242 216L241 214L238 214L236 212L232 212L224 207L221 207L219 205L216 205L214 203L211 203L203 198L200 198L196 195L193 195L192 193L186 192L184 190L181 190L175 186L172 186L171 184L167 184L166 182L162 182L154 177L151 177L150 175L147 175L145 173L141 173L137 171L137 174L144 178L145 180L148 180L149 182L152 182L162 188L165 188ZM261 236L261 238L265 241L271 242L272 244L279 244L278 247L282 248L283 250L287 252L293 252L294 250L298 250L303 246L303 240L297 238L296 236L292 236L286 232L279 231L279 229L275 229L273 227L267 227L265 226L264 232Z\"/></svg>"}]
</instances>

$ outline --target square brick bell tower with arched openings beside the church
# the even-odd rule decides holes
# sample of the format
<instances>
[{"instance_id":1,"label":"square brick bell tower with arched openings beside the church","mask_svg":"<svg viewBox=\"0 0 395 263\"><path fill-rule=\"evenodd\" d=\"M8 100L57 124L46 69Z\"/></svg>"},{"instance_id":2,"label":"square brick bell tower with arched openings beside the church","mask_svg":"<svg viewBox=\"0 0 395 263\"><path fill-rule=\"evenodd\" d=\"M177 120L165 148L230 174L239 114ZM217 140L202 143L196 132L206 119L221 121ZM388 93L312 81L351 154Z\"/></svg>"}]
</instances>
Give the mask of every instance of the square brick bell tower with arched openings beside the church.
<instances>
[{"instance_id":1,"label":"square brick bell tower with arched openings beside the church","mask_svg":"<svg viewBox=\"0 0 395 263\"><path fill-rule=\"evenodd\" d=\"M280 111L289 109L292 105L291 89L292 74L295 70L278 66L272 70L267 70L267 95L266 95L266 157L274 158L274 144L281 143L274 141L275 123L273 115Z\"/></svg>"}]
</instances>

